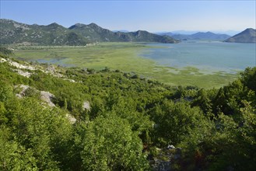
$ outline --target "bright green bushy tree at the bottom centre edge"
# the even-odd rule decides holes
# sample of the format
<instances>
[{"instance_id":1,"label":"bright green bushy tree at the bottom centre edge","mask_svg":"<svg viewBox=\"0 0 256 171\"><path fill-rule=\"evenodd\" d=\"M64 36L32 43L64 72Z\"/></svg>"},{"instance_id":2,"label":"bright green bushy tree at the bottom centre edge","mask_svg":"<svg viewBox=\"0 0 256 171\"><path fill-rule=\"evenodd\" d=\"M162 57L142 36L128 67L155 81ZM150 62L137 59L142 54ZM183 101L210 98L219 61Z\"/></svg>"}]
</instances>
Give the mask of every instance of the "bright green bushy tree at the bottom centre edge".
<instances>
[{"instance_id":1,"label":"bright green bushy tree at the bottom centre edge","mask_svg":"<svg viewBox=\"0 0 256 171\"><path fill-rule=\"evenodd\" d=\"M86 170L145 170L142 141L127 120L96 117L80 135L82 168ZM79 139L79 138L76 138Z\"/></svg>"}]
</instances>

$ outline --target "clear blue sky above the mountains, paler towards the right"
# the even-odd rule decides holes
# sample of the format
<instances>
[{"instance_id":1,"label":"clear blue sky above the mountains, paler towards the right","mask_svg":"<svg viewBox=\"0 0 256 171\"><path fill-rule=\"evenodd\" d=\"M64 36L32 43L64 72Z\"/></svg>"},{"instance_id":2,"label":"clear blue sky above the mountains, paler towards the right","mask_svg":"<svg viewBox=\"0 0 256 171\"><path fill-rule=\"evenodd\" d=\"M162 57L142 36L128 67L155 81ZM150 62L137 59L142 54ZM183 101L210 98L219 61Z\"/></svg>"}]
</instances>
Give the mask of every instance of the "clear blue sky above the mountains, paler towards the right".
<instances>
[{"instance_id":1,"label":"clear blue sky above the mountains, paler towards the right","mask_svg":"<svg viewBox=\"0 0 256 171\"><path fill-rule=\"evenodd\" d=\"M256 1L12 1L0 0L0 18L68 27L96 23L109 30L242 31L255 28Z\"/></svg>"}]
</instances>

